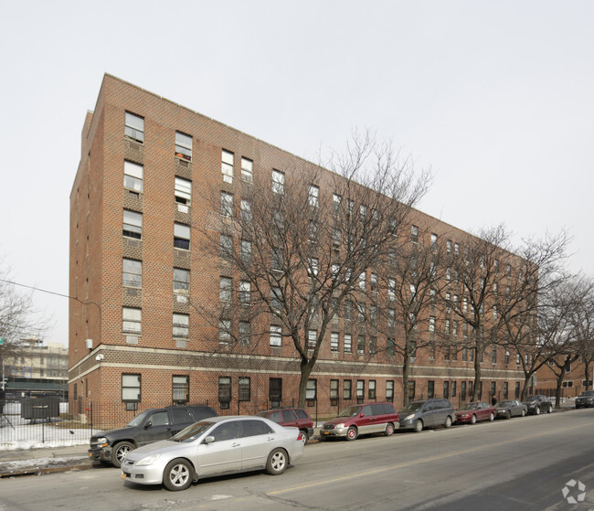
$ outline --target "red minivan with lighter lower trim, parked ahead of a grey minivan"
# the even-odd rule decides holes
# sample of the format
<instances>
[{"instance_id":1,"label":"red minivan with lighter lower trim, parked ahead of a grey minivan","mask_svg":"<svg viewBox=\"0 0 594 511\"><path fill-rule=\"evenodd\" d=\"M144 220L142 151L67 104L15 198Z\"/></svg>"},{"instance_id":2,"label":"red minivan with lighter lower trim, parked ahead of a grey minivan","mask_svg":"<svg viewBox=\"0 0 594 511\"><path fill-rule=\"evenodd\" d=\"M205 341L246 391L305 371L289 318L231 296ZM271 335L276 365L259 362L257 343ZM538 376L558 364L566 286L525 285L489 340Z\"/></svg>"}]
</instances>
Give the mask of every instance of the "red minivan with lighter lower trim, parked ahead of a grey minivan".
<instances>
[{"instance_id":1,"label":"red minivan with lighter lower trim, parked ahead of a grey minivan","mask_svg":"<svg viewBox=\"0 0 594 511\"><path fill-rule=\"evenodd\" d=\"M345 437L355 440L360 434L381 433L390 436L398 428L398 411L391 403L365 403L342 410L332 421L324 422L321 438Z\"/></svg>"}]
</instances>

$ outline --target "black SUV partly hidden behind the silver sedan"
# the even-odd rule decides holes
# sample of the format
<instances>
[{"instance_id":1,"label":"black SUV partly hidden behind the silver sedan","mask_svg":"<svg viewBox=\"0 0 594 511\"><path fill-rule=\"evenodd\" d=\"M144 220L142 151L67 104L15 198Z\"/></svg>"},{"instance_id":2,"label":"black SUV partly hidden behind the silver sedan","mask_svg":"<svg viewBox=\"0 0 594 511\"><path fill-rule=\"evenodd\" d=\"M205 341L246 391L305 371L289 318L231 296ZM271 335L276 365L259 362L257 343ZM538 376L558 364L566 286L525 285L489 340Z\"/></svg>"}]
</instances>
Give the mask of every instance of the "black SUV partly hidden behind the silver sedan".
<instances>
[{"instance_id":1,"label":"black SUV partly hidden behind the silver sedan","mask_svg":"<svg viewBox=\"0 0 594 511\"><path fill-rule=\"evenodd\" d=\"M217 412L205 405L144 410L119 430L101 431L91 436L89 457L119 468L133 449L168 439L196 421L216 416Z\"/></svg>"}]
</instances>

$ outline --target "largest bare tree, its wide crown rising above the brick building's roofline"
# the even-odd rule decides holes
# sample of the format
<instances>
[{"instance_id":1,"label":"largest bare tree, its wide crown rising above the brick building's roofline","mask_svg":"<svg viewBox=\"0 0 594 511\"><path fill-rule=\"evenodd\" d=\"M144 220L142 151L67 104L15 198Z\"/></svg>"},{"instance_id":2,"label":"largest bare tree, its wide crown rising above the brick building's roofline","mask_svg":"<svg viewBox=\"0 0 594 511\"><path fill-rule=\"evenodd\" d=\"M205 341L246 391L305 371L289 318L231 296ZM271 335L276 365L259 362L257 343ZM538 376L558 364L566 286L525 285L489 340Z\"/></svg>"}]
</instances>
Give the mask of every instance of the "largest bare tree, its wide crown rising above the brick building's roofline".
<instances>
[{"instance_id":1,"label":"largest bare tree, its wide crown rising above the brick building's roofline","mask_svg":"<svg viewBox=\"0 0 594 511\"><path fill-rule=\"evenodd\" d=\"M239 200L215 190L211 203L220 215L196 226L206 256L222 255L229 278L249 286L250 304L249 313L234 313L231 293L230 307L194 305L229 333L236 331L233 315L247 314L242 321L259 325L253 332L260 338L289 338L301 370L300 405L332 318L345 302L367 314L369 272L387 266L395 234L430 182L428 172L415 176L410 160L399 161L369 133L326 167L332 172L295 158L271 182L255 174ZM229 344L235 338L229 334Z\"/></svg>"}]
</instances>

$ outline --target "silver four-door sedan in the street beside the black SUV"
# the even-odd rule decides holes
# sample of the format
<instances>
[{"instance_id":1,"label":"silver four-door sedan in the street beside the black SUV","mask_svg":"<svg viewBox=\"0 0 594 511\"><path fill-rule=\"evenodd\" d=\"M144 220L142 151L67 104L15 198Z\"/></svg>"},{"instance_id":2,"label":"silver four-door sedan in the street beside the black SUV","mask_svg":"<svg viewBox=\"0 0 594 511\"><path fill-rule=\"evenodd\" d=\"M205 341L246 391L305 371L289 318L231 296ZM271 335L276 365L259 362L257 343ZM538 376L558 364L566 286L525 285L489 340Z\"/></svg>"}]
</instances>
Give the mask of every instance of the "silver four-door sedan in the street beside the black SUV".
<instances>
[{"instance_id":1,"label":"silver four-door sedan in the street beside the black SUV","mask_svg":"<svg viewBox=\"0 0 594 511\"><path fill-rule=\"evenodd\" d=\"M302 432L261 417L212 417L128 453L122 479L185 490L215 475L263 470L282 474L305 450Z\"/></svg>"}]
</instances>

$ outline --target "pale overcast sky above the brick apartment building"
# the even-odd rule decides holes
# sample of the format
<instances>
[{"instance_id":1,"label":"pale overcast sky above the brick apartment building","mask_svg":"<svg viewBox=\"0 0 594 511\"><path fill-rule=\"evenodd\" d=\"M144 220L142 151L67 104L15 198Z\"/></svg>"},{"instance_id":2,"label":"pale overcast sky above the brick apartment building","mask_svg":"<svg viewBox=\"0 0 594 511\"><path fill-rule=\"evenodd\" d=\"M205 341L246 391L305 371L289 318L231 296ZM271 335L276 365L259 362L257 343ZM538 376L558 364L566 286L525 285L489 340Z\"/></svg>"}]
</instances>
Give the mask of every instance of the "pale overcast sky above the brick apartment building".
<instances>
[{"instance_id":1,"label":"pale overcast sky above the brick apartment building","mask_svg":"<svg viewBox=\"0 0 594 511\"><path fill-rule=\"evenodd\" d=\"M68 294L69 194L103 73L317 161L355 128L434 181L419 209L567 229L593 274L594 2L0 0L0 259ZM22 288L23 291L27 291ZM68 299L35 293L68 343Z\"/></svg>"}]
</instances>

